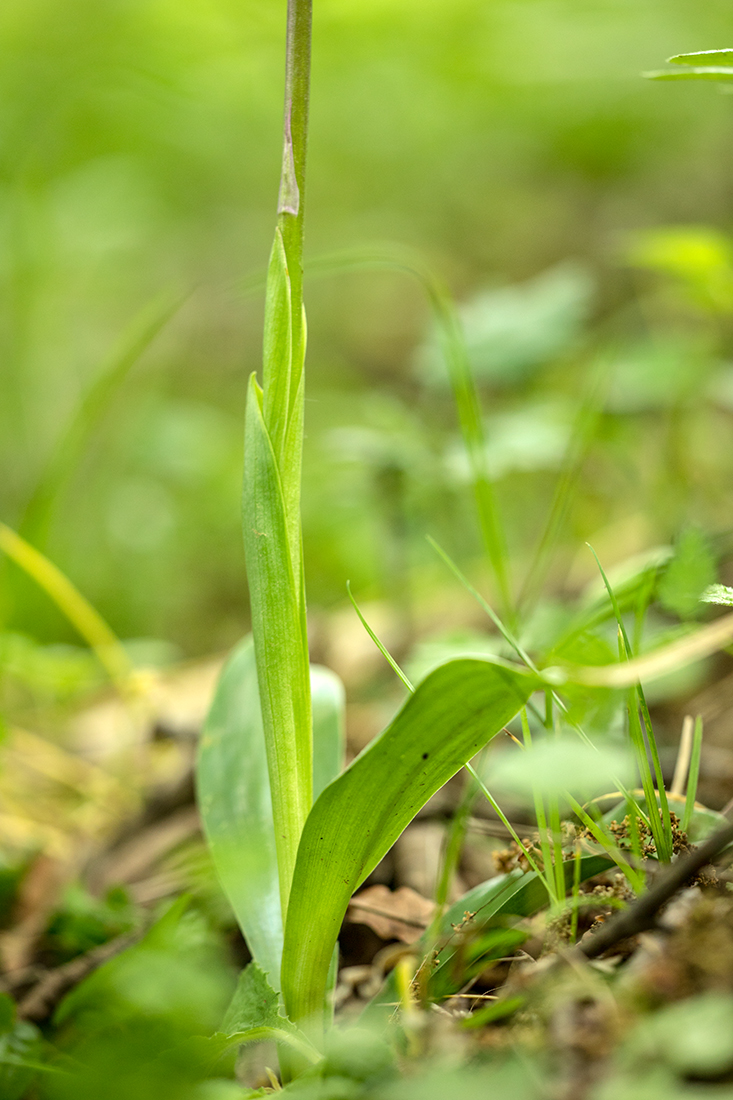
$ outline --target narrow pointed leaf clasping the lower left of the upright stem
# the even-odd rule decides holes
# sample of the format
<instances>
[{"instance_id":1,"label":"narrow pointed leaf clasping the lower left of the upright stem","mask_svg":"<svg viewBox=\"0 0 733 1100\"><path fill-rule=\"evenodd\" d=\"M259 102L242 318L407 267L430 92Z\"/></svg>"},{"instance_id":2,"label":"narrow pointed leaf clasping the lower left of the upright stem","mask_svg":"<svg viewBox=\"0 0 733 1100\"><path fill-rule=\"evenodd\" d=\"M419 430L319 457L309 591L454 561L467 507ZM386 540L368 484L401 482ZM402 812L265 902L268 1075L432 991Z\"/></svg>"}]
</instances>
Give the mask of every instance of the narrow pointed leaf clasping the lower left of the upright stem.
<instances>
[{"instance_id":1,"label":"narrow pointed leaf clasping the lower left of the upright stem","mask_svg":"<svg viewBox=\"0 0 733 1100\"><path fill-rule=\"evenodd\" d=\"M310 685L302 585L296 585L293 575L282 483L254 375L247 399L243 517L281 905L285 912L297 845L313 802Z\"/></svg>"}]
</instances>

